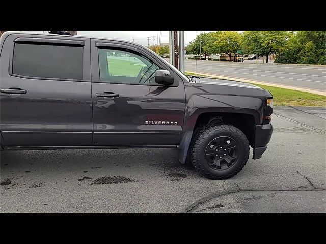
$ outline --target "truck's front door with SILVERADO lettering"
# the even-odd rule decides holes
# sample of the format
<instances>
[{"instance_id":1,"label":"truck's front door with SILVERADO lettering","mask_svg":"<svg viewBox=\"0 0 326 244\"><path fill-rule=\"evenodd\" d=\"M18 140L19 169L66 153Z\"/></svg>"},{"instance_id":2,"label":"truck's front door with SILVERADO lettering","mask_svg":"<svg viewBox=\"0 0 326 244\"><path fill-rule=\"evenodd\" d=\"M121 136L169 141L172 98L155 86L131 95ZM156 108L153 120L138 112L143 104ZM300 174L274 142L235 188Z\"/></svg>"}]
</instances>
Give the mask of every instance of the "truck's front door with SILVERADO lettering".
<instances>
[{"instance_id":1,"label":"truck's front door with SILVERADO lettering","mask_svg":"<svg viewBox=\"0 0 326 244\"><path fill-rule=\"evenodd\" d=\"M134 46L93 39L91 52L93 145L179 144L185 109L181 78L172 86L155 83L155 71L166 68Z\"/></svg>"}]
</instances>

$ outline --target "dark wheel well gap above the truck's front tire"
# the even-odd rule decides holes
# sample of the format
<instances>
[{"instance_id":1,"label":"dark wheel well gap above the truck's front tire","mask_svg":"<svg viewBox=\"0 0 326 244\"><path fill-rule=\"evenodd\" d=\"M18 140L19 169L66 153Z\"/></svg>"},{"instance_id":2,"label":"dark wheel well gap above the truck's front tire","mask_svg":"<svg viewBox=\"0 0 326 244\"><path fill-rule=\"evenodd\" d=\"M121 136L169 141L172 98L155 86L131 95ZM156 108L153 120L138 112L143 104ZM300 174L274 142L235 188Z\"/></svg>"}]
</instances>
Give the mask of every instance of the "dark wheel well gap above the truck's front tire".
<instances>
[{"instance_id":1,"label":"dark wheel well gap above the truck's front tire","mask_svg":"<svg viewBox=\"0 0 326 244\"><path fill-rule=\"evenodd\" d=\"M255 138L254 116L244 113L202 113L198 116L195 127L196 131L208 124L231 124L239 128L247 136L250 145L253 145Z\"/></svg>"}]
</instances>

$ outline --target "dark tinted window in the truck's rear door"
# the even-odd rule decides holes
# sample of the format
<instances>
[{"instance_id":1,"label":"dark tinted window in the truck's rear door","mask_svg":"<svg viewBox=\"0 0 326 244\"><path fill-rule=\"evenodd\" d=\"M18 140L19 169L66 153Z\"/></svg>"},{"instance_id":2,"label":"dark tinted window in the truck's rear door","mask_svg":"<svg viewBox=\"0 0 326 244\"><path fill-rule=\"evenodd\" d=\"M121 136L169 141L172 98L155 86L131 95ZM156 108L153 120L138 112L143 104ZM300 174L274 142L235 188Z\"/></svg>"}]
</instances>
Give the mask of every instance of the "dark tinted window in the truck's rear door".
<instances>
[{"instance_id":1,"label":"dark tinted window in the truck's rear door","mask_svg":"<svg viewBox=\"0 0 326 244\"><path fill-rule=\"evenodd\" d=\"M83 79L83 47L15 43L13 74Z\"/></svg>"}]
</instances>

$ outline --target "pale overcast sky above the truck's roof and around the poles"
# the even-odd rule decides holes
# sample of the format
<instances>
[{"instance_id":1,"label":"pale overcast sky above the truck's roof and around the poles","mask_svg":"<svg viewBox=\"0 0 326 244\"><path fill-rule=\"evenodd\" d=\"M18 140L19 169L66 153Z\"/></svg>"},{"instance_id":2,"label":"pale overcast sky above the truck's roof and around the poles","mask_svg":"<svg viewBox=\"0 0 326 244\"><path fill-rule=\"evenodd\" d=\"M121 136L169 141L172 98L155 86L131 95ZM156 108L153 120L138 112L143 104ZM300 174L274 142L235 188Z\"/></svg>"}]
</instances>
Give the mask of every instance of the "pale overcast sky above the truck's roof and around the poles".
<instances>
[{"instance_id":1,"label":"pale overcast sky above the truck's roof and around the poles","mask_svg":"<svg viewBox=\"0 0 326 244\"><path fill-rule=\"evenodd\" d=\"M43 32L43 31L35 31ZM48 31L44 31L48 32ZM153 36L155 36L155 45L157 44L157 36L161 32L160 43L169 43L169 31L77 31L77 35L107 37L124 39L127 41L134 41L142 45L148 45L147 37L150 37L149 43L153 45ZM211 31L202 31L211 32ZM190 41L196 38L196 33L199 35L200 31L184 31L184 44L187 45ZM134 40L133 40L134 39Z\"/></svg>"}]
</instances>

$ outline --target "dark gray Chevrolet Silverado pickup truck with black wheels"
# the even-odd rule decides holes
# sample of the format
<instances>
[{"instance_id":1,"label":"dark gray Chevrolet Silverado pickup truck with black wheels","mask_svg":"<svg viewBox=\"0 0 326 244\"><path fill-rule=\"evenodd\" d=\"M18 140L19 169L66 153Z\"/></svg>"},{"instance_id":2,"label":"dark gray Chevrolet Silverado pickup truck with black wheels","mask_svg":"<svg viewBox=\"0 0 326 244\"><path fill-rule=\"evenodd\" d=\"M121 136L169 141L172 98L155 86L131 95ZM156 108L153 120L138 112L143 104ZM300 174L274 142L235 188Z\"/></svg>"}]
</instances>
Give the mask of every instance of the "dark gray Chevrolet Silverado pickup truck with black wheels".
<instances>
[{"instance_id":1,"label":"dark gray Chevrolet Silverado pickup truck with black wheels","mask_svg":"<svg viewBox=\"0 0 326 244\"><path fill-rule=\"evenodd\" d=\"M273 96L257 86L186 76L122 40L5 32L0 38L3 150L177 148L204 176L261 158Z\"/></svg>"}]
</instances>

